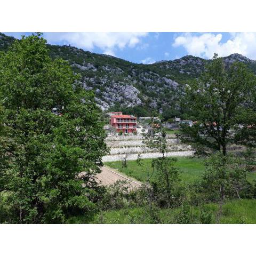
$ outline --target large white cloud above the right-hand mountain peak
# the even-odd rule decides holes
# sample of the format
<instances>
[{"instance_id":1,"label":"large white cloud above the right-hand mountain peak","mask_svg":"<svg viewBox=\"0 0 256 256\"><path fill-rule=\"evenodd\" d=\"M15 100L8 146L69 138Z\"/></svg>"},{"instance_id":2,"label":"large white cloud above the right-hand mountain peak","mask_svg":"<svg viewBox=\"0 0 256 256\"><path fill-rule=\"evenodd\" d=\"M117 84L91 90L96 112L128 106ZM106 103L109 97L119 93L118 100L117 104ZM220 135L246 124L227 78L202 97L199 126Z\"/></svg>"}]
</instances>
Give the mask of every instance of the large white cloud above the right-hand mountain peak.
<instances>
[{"instance_id":1,"label":"large white cloud above the right-hand mountain peak","mask_svg":"<svg viewBox=\"0 0 256 256\"><path fill-rule=\"evenodd\" d=\"M172 46L183 46L188 54L210 59L214 53L220 57L239 53L256 59L256 33L230 33L230 39L221 42L222 34L203 33L193 35L185 33L174 39Z\"/></svg>"}]
</instances>

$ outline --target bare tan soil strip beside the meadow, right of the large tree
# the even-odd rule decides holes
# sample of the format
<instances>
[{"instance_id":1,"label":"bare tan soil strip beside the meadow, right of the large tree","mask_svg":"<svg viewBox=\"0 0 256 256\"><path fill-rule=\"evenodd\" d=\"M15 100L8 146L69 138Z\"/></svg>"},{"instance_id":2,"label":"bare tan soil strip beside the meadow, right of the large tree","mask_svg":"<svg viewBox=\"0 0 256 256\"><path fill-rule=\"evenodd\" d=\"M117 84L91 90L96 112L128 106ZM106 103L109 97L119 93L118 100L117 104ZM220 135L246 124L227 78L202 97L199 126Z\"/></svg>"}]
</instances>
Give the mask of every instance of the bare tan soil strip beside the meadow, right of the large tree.
<instances>
[{"instance_id":1,"label":"bare tan soil strip beside the meadow, right of the large tree","mask_svg":"<svg viewBox=\"0 0 256 256\"><path fill-rule=\"evenodd\" d=\"M101 173L98 173L96 177L99 181L101 181L101 184L104 186L111 185L117 180L130 181L132 188L138 188L141 186L141 182L139 182L138 180L131 179L125 174L119 173L117 170L106 166L101 167Z\"/></svg>"}]
</instances>

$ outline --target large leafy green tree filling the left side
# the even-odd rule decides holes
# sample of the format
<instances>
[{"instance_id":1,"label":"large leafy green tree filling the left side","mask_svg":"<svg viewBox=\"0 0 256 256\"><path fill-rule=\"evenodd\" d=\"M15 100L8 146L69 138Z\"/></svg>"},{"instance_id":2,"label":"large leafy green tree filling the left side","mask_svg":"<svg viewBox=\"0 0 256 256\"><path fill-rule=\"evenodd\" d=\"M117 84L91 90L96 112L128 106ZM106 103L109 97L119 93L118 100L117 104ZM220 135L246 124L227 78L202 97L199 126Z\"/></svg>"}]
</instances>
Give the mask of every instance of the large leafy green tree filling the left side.
<instances>
[{"instance_id":1,"label":"large leafy green tree filling the left side","mask_svg":"<svg viewBox=\"0 0 256 256\"><path fill-rule=\"evenodd\" d=\"M1 190L12 223L63 223L95 212L105 133L92 92L33 34L0 59ZM55 113L54 113L55 111ZM2 118L3 117L3 118Z\"/></svg>"}]
</instances>

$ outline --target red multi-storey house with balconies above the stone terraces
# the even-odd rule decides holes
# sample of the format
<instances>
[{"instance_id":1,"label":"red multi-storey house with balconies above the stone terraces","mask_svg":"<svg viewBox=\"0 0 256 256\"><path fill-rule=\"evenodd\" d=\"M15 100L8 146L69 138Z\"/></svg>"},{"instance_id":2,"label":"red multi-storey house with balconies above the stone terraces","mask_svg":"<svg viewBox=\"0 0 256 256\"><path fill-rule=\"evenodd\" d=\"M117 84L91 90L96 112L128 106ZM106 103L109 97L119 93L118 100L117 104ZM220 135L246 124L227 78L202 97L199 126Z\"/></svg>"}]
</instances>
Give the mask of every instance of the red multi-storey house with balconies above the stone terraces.
<instances>
[{"instance_id":1,"label":"red multi-storey house with balconies above the stone terraces","mask_svg":"<svg viewBox=\"0 0 256 256\"><path fill-rule=\"evenodd\" d=\"M117 115L110 116L110 124L115 127L117 132L122 131L123 133L137 132L136 124L137 117L132 115L123 115L119 112Z\"/></svg>"}]
</instances>

